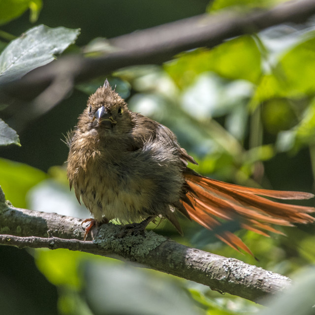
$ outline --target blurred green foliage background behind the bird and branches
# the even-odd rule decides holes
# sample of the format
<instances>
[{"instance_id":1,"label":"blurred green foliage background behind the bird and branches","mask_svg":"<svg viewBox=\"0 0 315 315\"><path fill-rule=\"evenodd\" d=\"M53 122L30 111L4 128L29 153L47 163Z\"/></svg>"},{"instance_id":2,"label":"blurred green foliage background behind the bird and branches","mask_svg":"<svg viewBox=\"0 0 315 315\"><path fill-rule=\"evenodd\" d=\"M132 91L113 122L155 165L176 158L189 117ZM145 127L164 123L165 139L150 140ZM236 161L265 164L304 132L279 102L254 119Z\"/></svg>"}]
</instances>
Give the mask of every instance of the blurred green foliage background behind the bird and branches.
<instances>
[{"instance_id":1,"label":"blurred green foliage background behind the bird and branches","mask_svg":"<svg viewBox=\"0 0 315 315\"><path fill-rule=\"evenodd\" d=\"M249 10L279 2L2 0L0 50L40 24L81 29L66 54L93 50L95 43L102 43L100 37L222 8ZM232 38L213 49L183 52L162 66L125 68L109 74L108 79L133 111L176 133L180 144L198 161L199 166L193 167L199 173L245 186L314 192L314 69L315 20L310 19L302 25L279 25ZM1 119L17 130L22 145L0 147L0 185L14 206L90 216L69 191L68 149L61 138L76 125L88 95L104 79L77 85L71 95L35 120L26 117L21 122L20 109L0 100ZM314 205L314 201L304 204ZM237 231L256 261L222 244L198 224L184 219L181 224L185 237L177 235L168 222L150 227L177 242L283 275L292 276L315 261L314 226L283 228L287 237L266 238L237 231L237 222L226 225ZM232 315L261 309L200 284L66 250L21 251L1 246L0 278L0 313L8 315Z\"/></svg>"}]
</instances>

